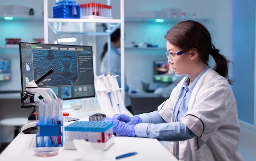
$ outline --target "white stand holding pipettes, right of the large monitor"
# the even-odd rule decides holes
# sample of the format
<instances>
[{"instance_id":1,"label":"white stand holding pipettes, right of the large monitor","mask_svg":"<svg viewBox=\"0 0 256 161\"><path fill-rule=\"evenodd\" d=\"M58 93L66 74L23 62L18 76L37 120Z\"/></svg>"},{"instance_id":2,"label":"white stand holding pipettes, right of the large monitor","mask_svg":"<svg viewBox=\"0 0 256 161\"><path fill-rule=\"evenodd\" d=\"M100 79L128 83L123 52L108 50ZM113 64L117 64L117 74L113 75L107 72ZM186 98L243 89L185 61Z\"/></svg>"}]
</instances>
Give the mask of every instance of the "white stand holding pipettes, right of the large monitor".
<instances>
[{"instance_id":1,"label":"white stand holding pipettes, right of the large monitor","mask_svg":"<svg viewBox=\"0 0 256 161\"><path fill-rule=\"evenodd\" d=\"M101 112L111 116L118 113L128 114L117 82L118 75L94 76L94 88L99 101ZM104 80L103 80L104 79Z\"/></svg>"}]
</instances>

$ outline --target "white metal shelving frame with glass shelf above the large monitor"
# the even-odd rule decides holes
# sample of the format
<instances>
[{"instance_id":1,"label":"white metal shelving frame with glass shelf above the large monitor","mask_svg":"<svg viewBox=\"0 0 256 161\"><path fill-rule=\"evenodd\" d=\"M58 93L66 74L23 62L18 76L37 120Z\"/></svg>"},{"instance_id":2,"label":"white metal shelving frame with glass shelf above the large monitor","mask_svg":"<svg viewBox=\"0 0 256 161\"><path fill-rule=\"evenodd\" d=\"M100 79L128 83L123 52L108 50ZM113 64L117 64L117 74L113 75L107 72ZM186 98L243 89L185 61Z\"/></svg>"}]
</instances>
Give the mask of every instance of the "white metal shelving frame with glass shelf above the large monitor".
<instances>
[{"instance_id":1,"label":"white metal shelving frame with glass shelf above the large monitor","mask_svg":"<svg viewBox=\"0 0 256 161\"><path fill-rule=\"evenodd\" d=\"M107 0L107 5L110 5L110 0ZM110 35L116 28L121 29L121 94L124 99L124 0L120 0L120 19L69 19L69 18L48 18L48 0L44 0L44 39L45 43L48 43L48 26L56 35L66 34L62 30L58 30L58 25L62 23L77 23L83 26L87 23L106 23L108 28L106 31L100 32L87 32L83 27L80 27L79 31L68 32L70 34L78 35L105 35L108 36L108 49L110 49ZM56 27L57 26L57 27ZM110 55L110 54L108 54Z\"/></svg>"}]
</instances>

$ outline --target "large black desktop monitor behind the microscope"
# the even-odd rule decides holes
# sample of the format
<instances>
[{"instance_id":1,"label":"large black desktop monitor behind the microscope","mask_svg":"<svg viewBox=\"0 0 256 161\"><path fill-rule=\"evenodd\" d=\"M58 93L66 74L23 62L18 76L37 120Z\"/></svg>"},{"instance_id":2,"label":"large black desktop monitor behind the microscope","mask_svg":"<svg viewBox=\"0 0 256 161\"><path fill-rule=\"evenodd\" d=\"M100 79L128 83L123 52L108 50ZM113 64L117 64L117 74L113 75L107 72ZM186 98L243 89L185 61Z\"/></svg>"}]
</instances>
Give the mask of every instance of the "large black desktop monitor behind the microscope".
<instances>
[{"instance_id":1,"label":"large black desktop monitor behind the microscope","mask_svg":"<svg viewBox=\"0 0 256 161\"><path fill-rule=\"evenodd\" d=\"M22 93L28 82L36 81L52 68L54 73L38 83L38 88L51 88L64 100L95 97L92 46L27 42L20 42L19 46ZM36 93L34 101L38 96Z\"/></svg>"}]
</instances>

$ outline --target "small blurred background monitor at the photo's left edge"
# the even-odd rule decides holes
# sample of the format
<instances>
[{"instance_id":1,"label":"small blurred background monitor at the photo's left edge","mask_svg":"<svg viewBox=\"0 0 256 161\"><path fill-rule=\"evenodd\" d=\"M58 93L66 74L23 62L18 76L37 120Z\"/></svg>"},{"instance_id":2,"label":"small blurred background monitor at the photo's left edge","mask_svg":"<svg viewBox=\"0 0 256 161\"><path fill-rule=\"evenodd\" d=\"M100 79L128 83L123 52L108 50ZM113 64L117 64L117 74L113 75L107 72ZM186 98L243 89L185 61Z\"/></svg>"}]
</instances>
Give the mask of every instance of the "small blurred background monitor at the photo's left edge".
<instances>
[{"instance_id":1,"label":"small blurred background monitor at the photo's left edge","mask_svg":"<svg viewBox=\"0 0 256 161\"><path fill-rule=\"evenodd\" d=\"M11 80L11 59L0 58L0 82Z\"/></svg>"}]
</instances>

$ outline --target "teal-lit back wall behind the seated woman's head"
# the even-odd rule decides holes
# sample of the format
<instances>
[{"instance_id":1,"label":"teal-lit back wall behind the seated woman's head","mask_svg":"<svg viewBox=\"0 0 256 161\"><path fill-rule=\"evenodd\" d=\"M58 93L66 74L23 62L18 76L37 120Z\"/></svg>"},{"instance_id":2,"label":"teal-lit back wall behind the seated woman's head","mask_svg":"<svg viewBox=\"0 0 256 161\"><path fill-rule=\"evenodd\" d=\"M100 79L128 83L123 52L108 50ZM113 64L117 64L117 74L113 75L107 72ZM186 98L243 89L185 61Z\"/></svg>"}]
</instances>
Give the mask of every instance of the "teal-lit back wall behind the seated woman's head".
<instances>
[{"instance_id":1,"label":"teal-lit back wall behind the seated woman's head","mask_svg":"<svg viewBox=\"0 0 256 161\"><path fill-rule=\"evenodd\" d=\"M132 10L131 10L132 8ZM162 9L180 9L186 13L184 19L193 19L204 24L213 37L213 44L226 57L231 59L231 0L148 0L125 1L125 17L140 17L141 12L161 11ZM142 13L141 13L142 14ZM168 21L163 23L136 21L125 22L125 70L126 80L130 88L142 90L141 81L148 82L149 88L168 86L153 82L153 61L166 60L166 41L164 35L177 22ZM132 43L156 44L158 49L132 49ZM141 48L145 47L142 45Z\"/></svg>"}]
</instances>

